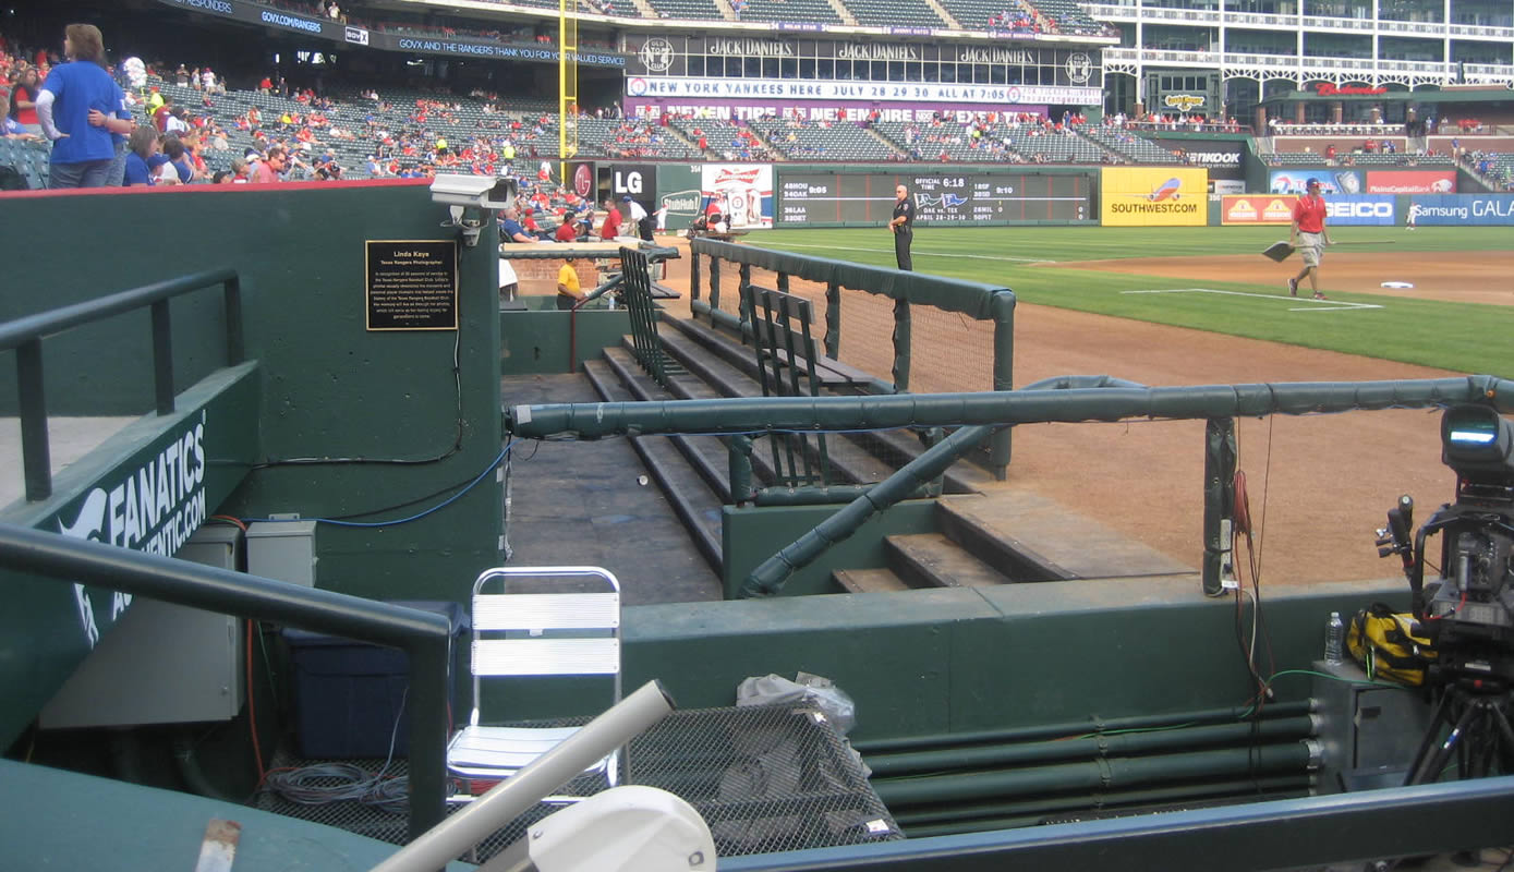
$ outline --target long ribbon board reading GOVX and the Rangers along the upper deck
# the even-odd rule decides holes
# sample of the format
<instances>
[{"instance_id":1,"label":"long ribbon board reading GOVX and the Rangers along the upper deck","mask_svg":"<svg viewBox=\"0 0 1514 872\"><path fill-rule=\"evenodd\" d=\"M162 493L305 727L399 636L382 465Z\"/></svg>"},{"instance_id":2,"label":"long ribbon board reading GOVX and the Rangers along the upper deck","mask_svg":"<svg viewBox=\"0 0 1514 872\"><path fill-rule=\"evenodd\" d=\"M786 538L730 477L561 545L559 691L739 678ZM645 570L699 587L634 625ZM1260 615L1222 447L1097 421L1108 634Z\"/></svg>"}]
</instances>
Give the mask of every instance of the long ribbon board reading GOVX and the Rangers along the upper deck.
<instances>
[{"instance_id":1,"label":"long ribbon board reading GOVX and the Rangers along the upper deck","mask_svg":"<svg viewBox=\"0 0 1514 872\"><path fill-rule=\"evenodd\" d=\"M542 45L512 45L484 38L453 38L400 35L363 27L350 27L341 21L332 21L318 15L300 15L282 9L268 9L247 0L157 0L167 6L200 12L210 18L241 21L244 24L259 24L274 30L306 33L321 36L344 45L366 45L383 51L418 51L422 54L447 54L453 58L494 58L501 61L539 61L557 62L557 50ZM580 51L578 64L584 67L625 67L624 54L607 51Z\"/></svg>"}]
</instances>

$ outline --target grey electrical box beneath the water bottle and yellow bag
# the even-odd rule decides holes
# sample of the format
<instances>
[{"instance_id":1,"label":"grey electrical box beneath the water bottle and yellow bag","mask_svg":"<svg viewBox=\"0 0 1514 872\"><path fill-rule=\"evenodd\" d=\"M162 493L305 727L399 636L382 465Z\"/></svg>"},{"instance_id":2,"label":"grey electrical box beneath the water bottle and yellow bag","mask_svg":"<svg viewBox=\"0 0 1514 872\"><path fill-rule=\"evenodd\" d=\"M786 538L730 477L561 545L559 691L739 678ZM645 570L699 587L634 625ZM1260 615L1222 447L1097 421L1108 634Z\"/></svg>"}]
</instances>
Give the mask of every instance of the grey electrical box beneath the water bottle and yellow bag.
<instances>
[{"instance_id":1,"label":"grey electrical box beneath the water bottle and yellow bag","mask_svg":"<svg viewBox=\"0 0 1514 872\"><path fill-rule=\"evenodd\" d=\"M1366 684L1367 674L1350 662L1317 660L1314 671L1335 677L1313 680L1323 751L1319 790L1340 793L1403 784L1431 727L1425 692Z\"/></svg>"}]
</instances>

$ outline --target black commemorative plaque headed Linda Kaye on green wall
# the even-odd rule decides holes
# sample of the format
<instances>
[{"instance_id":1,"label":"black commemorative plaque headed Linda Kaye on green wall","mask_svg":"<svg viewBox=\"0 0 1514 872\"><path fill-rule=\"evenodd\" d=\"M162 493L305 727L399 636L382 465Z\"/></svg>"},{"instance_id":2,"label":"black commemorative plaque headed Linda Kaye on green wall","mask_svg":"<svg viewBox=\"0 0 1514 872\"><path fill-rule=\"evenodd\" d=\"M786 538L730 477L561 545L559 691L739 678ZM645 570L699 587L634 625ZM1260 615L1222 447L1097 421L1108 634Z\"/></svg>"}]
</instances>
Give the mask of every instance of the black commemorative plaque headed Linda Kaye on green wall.
<instances>
[{"instance_id":1,"label":"black commemorative plaque headed Linda Kaye on green wall","mask_svg":"<svg viewBox=\"0 0 1514 872\"><path fill-rule=\"evenodd\" d=\"M457 242L368 241L368 329L456 330Z\"/></svg>"}]
</instances>

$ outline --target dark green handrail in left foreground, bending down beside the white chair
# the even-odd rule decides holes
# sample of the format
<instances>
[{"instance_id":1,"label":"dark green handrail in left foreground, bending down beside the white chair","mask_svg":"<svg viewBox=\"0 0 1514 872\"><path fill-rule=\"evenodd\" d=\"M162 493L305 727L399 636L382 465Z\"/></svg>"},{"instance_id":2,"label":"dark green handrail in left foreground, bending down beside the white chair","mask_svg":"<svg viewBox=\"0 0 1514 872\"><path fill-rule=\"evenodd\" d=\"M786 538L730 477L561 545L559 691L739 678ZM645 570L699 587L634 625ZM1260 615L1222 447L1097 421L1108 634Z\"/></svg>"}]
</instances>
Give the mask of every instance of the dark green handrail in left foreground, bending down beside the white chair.
<instances>
[{"instance_id":1,"label":"dark green handrail in left foreground, bending down beside the white chair","mask_svg":"<svg viewBox=\"0 0 1514 872\"><path fill-rule=\"evenodd\" d=\"M410 656L410 837L444 818L453 636L441 615L15 524L0 524L0 568L65 583L88 578L92 586L164 603L403 649Z\"/></svg>"}]
</instances>

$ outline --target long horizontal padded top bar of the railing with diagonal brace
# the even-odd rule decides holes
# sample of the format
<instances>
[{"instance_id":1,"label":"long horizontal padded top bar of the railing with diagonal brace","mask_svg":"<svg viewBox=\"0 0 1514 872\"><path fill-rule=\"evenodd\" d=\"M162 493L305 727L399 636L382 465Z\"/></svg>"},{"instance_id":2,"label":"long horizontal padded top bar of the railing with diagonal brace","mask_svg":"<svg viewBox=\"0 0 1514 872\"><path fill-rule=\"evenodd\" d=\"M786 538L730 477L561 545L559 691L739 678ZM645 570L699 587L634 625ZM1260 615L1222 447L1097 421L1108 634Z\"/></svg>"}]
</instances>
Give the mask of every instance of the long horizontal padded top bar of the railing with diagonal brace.
<instances>
[{"instance_id":1,"label":"long horizontal padded top bar of the railing with diagonal brace","mask_svg":"<svg viewBox=\"0 0 1514 872\"><path fill-rule=\"evenodd\" d=\"M1458 375L1400 382L1291 382L1086 391L989 391L889 397L740 397L660 403L553 403L515 406L510 431L524 439L577 434L597 439L634 433L739 433L957 424L1201 419L1313 415L1364 409L1426 409L1487 403L1514 412L1514 382Z\"/></svg>"}]
</instances>

